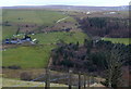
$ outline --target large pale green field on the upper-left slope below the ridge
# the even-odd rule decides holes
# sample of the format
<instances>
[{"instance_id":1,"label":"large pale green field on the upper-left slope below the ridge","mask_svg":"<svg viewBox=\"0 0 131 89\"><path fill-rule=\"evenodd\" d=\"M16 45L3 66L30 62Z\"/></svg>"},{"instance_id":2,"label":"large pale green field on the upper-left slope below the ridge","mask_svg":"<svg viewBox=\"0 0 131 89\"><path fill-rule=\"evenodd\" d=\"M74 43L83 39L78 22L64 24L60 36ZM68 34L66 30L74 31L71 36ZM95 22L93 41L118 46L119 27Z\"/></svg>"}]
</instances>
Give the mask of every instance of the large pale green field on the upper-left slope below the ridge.
<instances>
[{"instance_id":1,"label":"large pale green field on the upper-left slope below the ridge","mask_svg":"<svg viewBox=\"0 0 131 89\"><path fill-rule=\"evenodd\" d=\"M66 16L67 15L57 11L16 9L3 10L3 22L8 21L10 23L34 23L39 25L52 25L58 20L63 18ZM74 20L71 17L69 17L69 20L74 22Z\"/></svg>"}]
</instances>

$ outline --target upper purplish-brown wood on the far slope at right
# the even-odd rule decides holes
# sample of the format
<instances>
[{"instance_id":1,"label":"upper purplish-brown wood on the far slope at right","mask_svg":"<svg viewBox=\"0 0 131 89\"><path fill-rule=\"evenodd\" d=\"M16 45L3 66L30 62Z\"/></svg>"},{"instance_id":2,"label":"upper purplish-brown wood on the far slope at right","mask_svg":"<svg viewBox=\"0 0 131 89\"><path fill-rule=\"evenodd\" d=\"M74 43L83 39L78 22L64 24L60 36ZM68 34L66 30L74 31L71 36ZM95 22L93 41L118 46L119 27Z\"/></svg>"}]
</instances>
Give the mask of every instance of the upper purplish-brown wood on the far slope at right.
<instances>
[{"instance_id":1,"label":"upper purplish-brown wood on the far slope at right","mask_svg":"<svg viewBox=\"0 0 131 89\"><path fill-rule=\"evenodd\" d=\"M81 28L92 36L129 38L129 18L87 17L79 20Z\"/></svg>"}]
</instances>

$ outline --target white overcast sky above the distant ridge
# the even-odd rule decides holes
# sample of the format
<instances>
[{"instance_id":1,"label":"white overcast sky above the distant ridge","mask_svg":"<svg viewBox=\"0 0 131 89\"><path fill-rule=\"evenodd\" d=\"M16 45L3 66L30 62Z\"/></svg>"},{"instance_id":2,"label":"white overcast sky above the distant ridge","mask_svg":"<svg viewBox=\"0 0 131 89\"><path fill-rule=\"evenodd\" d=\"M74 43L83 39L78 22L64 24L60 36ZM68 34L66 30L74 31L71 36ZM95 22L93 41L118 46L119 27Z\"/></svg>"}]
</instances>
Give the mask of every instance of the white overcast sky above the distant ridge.
<instances>
[{"instance_id":1,"label":"white overcast sky above the distant ridge","mask_svg":"<svg viewBox=\"0 0 131 89\"><path fill-rule=\"evenodd\" d=\"M95 7L118 7L129 5L130 0L0 0L0 7L12 5L95 5Z\"/></svg>"}]
</instances>

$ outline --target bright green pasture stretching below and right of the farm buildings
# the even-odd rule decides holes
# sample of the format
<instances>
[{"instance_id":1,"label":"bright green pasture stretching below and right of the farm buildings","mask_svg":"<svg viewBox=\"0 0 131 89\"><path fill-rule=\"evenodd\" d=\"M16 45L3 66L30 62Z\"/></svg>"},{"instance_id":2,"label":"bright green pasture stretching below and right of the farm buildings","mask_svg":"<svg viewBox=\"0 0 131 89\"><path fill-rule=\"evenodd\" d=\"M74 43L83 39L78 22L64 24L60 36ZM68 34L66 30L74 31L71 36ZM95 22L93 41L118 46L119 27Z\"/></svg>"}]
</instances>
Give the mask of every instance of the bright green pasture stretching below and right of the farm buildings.
<instances>
[{"instance_id":1,"label":"bright green pasture stretching below and right of the farm buildings","mask_svg":"<svg viewBox=\"0 0 131 89\"><path fill-rule=\"evenodd\" d=\"M32 38L36 38L39 43L44 46L7 49L7 51L2 53L3 66L17 65L22 68L43 68L47 66L51 49L56 47L51 43L57 43L60 39L67 43L76 43L78 41L83 43L86 35L81 31L49 33L36 34L32 36Z\"/></svg>"}]
</instances>

